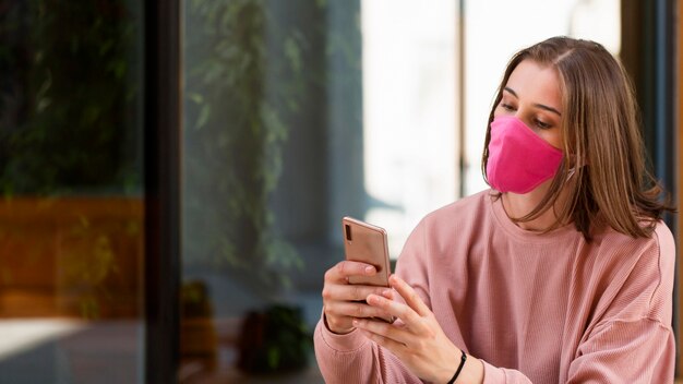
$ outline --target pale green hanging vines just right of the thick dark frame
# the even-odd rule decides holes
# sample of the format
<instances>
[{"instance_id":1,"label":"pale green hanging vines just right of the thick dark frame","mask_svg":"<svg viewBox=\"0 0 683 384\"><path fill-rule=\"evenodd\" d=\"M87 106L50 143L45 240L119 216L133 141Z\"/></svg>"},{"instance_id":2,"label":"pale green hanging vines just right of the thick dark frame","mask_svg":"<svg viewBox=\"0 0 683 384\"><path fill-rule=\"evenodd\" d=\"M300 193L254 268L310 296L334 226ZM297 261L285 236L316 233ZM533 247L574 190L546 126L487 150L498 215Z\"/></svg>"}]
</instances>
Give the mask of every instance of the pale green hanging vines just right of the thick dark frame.
<instances>
[{"instance_id":1,"label":"pale green hanging vines just right of the thick dark frame","mask_svg":"<svg viewBox=\"0 0 683 384\"><path fill-rule=\"evenodd\" d=\"M188 263L235 272L262 291L290 284L302 268L295 248L276 229L269 207L283 169L283 148L305 87L320 81L304 61L308 38L283 22L277 2L191 0L185 57L187 141L200 147L187 159L187 183L215 193L219 206L188 202L189 226L206 242ZM324 7L322 3L315 7ZM192 58L201 58L193 61Z\"/></svg>"}]
</instances>

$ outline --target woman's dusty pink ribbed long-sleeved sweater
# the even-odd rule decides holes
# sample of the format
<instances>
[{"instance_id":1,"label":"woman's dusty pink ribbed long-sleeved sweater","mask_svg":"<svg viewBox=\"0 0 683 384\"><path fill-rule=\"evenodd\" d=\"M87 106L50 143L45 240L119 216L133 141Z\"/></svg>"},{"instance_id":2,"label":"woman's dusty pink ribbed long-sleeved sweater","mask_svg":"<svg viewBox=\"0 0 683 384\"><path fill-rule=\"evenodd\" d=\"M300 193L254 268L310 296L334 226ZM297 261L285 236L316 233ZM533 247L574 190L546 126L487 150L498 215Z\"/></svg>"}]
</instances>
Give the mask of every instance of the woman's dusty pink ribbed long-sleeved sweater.
<instances>
[{"instance_id":1,"label":"woman's dusty pink ribbed long-sleeved sweater","mask_svg":"<svg viewBox=\"0 0 683 384\"><path fill-rule=\"evenodd\" d=\"M664 224L588 243L573 226L520 229L484 191L428 215L396 274L484 361L484 383L672 383L674 257ZM421 382L358 332L321 320L314 341L328 384Z\"/></svg>"}]
</instances>

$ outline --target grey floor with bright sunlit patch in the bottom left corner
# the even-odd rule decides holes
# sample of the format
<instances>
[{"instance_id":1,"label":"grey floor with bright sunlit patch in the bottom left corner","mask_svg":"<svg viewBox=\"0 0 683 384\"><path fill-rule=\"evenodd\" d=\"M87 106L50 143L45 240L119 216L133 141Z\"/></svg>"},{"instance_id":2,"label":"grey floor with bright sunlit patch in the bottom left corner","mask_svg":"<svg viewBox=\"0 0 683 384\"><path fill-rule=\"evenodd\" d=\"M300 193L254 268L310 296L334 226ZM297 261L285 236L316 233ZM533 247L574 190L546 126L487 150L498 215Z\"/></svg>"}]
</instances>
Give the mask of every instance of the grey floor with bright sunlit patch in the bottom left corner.
<instances>
[{"instance_id":1,"label":"grey floor with bright sunlit patch in the bottom left corner","mask_svg":"<svg viewBox=\"0 0 683 384\"><path fill-rule=\"evenodd\" d=\"M0 320L0 383L142 382L139 322Z\"/></svg>"}]
</instances>

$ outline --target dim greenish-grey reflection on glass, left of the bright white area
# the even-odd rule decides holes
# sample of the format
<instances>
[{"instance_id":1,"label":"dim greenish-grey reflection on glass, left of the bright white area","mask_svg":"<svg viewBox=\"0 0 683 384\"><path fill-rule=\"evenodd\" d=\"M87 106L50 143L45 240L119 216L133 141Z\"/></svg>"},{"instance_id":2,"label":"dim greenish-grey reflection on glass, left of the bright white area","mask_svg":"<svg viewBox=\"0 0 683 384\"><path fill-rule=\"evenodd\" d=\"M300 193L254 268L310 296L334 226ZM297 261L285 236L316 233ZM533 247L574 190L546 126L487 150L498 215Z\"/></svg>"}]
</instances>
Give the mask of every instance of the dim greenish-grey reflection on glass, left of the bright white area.
<instances>
[{"instance_id":1,"label":"dim greenish-grey reflection on glass, left of the bright white area","mask_svg":"<svg viewBox=\"0 0 683 384\"><path fill-rule=\"evenodd\" d=\"M320 383L328 207L364 203L359 3L191 0L184 17L181 382Z\"/></svg>"}]
</instances>

